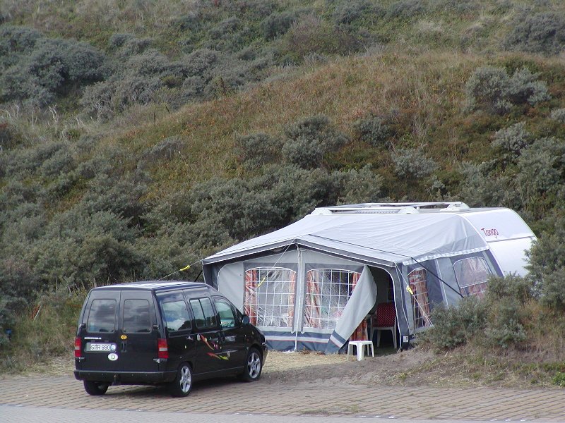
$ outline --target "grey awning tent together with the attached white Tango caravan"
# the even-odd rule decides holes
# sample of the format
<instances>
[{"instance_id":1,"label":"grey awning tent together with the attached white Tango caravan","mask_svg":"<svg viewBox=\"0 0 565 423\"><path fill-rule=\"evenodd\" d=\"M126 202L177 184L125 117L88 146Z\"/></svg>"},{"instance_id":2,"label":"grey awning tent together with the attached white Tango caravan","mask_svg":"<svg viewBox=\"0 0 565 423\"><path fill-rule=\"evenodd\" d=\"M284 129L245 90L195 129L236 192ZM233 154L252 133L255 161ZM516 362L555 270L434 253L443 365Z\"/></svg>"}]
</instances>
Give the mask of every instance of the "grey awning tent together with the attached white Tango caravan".
<instances>
[{"instance_id":1,"label":"grey awning tent together with the attached white Tango caravan","mask_svg":"<svg viewBox=\"0 0 565 423\"><path fill-rule=\"evenodd\" d=\"M357 320L370 314L375 302L385 300L395 303L399 335L407 340L431 324L428 314L434 304L453 304L466 290L479 289L477 278L523 272L523 247L535 239L509 209L441 206L355 204L316 209L285 228L207 257L205 281L242 312L257 314L258 326L274 348L335 350L361 323ZM504 257L497 259L495 252ZM520 262L516 255L522 257ZM254 282L256 275L261 280ZM377 293L371 291L373 286ZM371 298L355 318L346 309L352 305L347 307L342 293L336 297L334 292L347 290L349 300L355 300L353 288L367 290ZM329 309L337 310L335 315ZM277 319L277 312L285 318ZM352 320L344 324L347 319Z\"/></svg>"}]
</instances>

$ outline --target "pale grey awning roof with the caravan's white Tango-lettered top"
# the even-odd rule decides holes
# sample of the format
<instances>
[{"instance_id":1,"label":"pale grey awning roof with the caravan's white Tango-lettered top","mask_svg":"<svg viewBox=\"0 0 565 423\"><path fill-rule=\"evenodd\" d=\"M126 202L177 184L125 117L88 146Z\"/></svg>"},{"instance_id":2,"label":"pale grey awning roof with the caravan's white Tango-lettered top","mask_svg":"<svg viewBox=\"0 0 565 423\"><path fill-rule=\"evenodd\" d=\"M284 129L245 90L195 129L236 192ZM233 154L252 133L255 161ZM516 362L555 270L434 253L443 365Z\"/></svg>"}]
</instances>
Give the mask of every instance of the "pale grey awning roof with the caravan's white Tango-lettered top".
<instances>
[{"instance_id":1,"label":"pale grey awning roof with the caravan's white Tango-lettered top","mask_svg":"<svg viewBox=\"0 0 565 423\"><path fill-rule=\"evenodd\" d=\"M350 204L317 208L285 228L234 245L203 263L290 245L383 266L490 249L503 271L523 274L524 250L533 239L534 233L511 209L472 209L462 202Z\"/></svg>"}]
</instances>

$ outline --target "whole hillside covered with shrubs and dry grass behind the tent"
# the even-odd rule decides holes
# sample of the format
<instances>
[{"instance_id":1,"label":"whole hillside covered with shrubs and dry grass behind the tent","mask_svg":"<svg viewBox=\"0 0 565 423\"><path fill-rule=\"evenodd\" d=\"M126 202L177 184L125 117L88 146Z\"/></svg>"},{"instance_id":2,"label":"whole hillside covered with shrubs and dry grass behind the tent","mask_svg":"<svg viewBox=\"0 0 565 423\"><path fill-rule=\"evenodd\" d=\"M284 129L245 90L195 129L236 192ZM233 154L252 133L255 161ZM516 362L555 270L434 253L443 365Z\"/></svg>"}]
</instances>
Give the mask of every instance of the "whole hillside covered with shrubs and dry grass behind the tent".
<instances>
[{"instance_id":1,"label":"whole hillside covered with shrubs and dry grass behind the tent","mask_svg":"<svg viewBox=\"0 0 565 423\"><path fill-rule=\"evenodd\" d=\"M428 341L564 360L564 46L557 0L5 0L0 366L71 350L93 286L194 279L314 207L448 200L540 241Z\"/></svg>"}]
</instances>

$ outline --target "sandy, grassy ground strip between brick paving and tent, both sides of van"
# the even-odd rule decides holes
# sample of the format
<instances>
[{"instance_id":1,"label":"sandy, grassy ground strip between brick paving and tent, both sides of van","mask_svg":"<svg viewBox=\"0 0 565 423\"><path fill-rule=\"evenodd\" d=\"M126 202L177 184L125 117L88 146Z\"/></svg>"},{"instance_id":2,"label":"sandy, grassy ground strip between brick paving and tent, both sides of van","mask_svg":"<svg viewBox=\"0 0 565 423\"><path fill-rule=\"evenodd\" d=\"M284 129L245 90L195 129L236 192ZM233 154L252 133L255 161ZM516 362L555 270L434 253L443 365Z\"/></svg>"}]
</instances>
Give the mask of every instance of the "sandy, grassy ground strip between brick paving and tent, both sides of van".
<instances>
[{"instance_id":1,"label":"sandy, grassy ground strip between brick paving and tent, both sides of van","mask_svg":"<svg viewBox=\"0 0 565 423\"><path fill-rule=\"evenodd\" d=\"M555 388L547 372L516 372L512 369L512 362L506 368L492 367L488 360L463 360L452 353L434 355L417 348L401 352L384 348L376 349L376 353L376 357L357 361L355 357L338 354L270 351L261 378L268 384L301 384L323 380L326 385ZM0 374L0 379L72 376L73 369L74 360L69 355L36 364L28 372Z\"/></svg>"}]
</instances>

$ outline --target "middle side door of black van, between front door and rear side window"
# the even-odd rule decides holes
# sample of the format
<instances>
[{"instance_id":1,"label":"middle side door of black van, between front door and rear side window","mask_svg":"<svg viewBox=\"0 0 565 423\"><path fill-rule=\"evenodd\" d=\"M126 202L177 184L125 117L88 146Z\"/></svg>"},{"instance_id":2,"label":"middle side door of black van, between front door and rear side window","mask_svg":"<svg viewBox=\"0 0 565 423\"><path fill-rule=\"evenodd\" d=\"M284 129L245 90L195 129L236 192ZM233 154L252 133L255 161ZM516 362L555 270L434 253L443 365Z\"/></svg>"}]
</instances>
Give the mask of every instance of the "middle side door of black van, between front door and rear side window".
<instances>
[{"instance_id":1,"label":"middle side door of black van, between front door and rear side window","mask_svg":"<svg viewBox=\"0 0 565 423\"><path fill-rule=\"evenodd\" d=\"M201 297L190 298L189 303L196 326L194 329L194 336L196 336L194 373L221 372L224 367L220 361L224 358L220 356L222 352L220 349L220 326L212 302L208 297Z\"/></svg>"}]
</instances>

